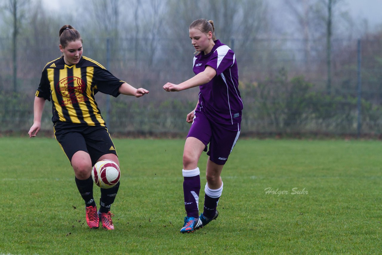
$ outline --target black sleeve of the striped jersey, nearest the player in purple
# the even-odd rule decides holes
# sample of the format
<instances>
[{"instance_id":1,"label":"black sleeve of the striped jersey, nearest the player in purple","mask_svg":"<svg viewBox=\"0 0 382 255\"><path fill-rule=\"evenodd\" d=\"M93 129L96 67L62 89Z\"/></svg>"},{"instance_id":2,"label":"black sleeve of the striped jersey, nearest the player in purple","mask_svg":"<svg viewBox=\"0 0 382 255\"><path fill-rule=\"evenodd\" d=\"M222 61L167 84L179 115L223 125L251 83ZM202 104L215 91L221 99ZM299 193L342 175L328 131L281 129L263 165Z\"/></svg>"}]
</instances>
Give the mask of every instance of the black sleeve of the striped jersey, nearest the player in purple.
<instances>
[{"instance_id":1,"label":"black sleeve of the striped jersey, nearest the player in purple","mask_svg":"<svg viewBox=\"0 0 382 255\"><path fill-rule=\"evenodd\" d=\"M117 97L120 94L118 90L120 86L125 83L125 81L121 81L112 75L112 73L108 70L102 68L95 68L93 81L99 92L112 95L114 97Z\"/></svg>"}]
</instances>

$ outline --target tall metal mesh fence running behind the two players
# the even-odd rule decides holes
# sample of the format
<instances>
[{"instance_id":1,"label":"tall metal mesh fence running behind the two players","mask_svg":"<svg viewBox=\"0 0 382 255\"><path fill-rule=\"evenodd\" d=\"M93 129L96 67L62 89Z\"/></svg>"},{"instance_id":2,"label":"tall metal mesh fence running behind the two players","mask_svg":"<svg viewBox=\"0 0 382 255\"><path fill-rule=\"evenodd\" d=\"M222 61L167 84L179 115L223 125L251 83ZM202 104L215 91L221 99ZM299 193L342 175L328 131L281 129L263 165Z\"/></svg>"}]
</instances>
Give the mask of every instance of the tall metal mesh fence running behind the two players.
<instances>
[{"instance_id":1,"label":"tall metal mesh fence running behind the two players","mask_svg":"<svg viewBox=\"0 0 382 255\"><path fill-rule=\"evenodd\" d=\"M55 40L21 38L13 83L10 42L0 38L2 134L29 130L42 68L60 56ZM333 40L330 77L325 40L230 39L223 43L233 48L238 61L244 135L382 134L382 41ZM193 76L193 47L188 40L92 38L84 41L84 55L121 80L150 90L139 99L96 95L111 132L187 132L185 118L197 102L197 88L165 93L162 86ZM42 129L47 132L52 131L51 116L47 102L42 120Z\"/></svg>"}]
</instances>

